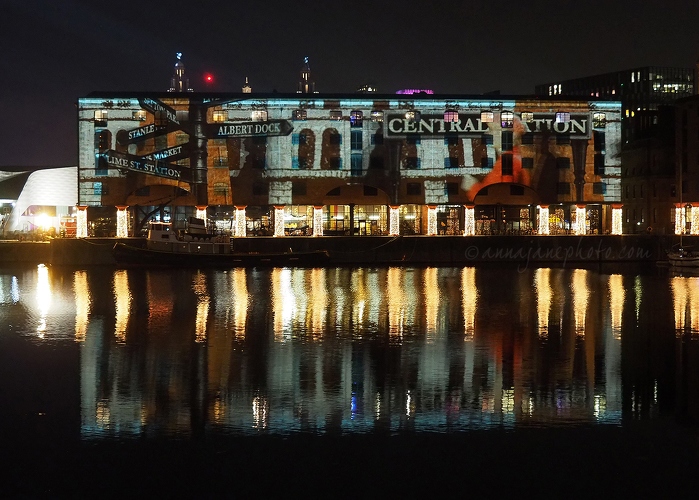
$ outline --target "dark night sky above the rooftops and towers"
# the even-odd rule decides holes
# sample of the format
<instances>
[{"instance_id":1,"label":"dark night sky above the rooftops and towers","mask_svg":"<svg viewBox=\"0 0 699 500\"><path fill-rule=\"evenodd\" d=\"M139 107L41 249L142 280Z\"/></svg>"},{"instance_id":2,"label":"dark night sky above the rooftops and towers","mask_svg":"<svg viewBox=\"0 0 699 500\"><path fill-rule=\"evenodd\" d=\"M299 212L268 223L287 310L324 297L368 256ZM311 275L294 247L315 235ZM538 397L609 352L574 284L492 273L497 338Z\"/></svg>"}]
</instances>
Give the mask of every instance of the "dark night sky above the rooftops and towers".
<instances>
[{"instance_id":1,"label":"dark night sky above the rooftops and towers","mask_svg":"<svg viewBox=\"0 0 699 500\"><path fill-rule=\"evenodd\" d=\"M0 169L77 164L76 103L165 91L531 94L538 83L694 66L696 0L2 0ZM204 74L214 75L206 84Z\"/></svg>"}]
</instances>

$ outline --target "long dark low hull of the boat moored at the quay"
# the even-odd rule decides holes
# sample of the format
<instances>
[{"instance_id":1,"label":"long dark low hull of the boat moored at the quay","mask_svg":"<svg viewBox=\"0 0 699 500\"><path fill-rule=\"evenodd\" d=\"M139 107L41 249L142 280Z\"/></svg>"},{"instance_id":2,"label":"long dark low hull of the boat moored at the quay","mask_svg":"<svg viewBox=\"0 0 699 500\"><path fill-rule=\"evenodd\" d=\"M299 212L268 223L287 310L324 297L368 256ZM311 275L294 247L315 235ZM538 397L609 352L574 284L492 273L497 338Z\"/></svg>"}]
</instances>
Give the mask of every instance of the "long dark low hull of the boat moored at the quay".
<instances>
[{"instance_id":1,"label":"long dark low hull of the boat moored at the quay","mask_svg":"<svg viewBox=\"0 0 699 500\"><path fill-rule=\"evenodd\" d=\"M328 263L325 250L284 253L169 252L116 243L112 250L118 264L174 267L316 267Z\"/></svg>"}]
</instances>

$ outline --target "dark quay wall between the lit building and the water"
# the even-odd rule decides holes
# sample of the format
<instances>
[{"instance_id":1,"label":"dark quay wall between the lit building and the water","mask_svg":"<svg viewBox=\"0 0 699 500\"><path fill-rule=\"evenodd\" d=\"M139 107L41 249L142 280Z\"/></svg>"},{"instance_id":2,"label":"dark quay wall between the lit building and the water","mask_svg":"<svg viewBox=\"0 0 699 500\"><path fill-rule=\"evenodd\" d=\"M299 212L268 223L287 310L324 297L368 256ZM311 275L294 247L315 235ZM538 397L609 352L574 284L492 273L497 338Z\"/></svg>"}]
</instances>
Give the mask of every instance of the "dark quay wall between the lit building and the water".
<instances>
[{"instance_id":1,"label":"dark quay wall between the lit building and the water","mask_svg":"<svg viewBox=\"0 0 699 500\"><path fill-rule=\"evenodd\" d=\"M115 265L116 242L143 247L144 238L56 238L49 242L0 243L0 263ZM482 263L585 266L598 263L654 263L676 236L366 236L234 238L234 252L305 252L326 250L330 265L435 265ZM686 237L685 244L699 244Z\"/></svg>"}]
</instances>

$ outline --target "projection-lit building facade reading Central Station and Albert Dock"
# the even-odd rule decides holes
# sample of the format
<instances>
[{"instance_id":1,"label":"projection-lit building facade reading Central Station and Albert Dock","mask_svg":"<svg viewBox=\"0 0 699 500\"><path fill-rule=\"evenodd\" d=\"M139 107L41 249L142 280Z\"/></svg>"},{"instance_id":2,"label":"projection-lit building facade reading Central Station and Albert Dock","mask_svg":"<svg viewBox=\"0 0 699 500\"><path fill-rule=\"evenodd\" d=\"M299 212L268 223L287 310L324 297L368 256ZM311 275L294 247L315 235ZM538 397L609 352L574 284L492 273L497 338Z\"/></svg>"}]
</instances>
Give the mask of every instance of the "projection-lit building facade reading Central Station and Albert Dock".
<instances>
[{"instance_id":1,"label":"projection-lit building facade reading Central Station and Albert Dock","mask_svg":"<svg viewBox=\"0 0 699 500\"><path fill-rule=\"evenodd\" d=\"M235 236L601 234L620 202L615 101L129 93L78 113L79 204L128 210L129 234L202 207Z\"/></svg>"}]
</instances>

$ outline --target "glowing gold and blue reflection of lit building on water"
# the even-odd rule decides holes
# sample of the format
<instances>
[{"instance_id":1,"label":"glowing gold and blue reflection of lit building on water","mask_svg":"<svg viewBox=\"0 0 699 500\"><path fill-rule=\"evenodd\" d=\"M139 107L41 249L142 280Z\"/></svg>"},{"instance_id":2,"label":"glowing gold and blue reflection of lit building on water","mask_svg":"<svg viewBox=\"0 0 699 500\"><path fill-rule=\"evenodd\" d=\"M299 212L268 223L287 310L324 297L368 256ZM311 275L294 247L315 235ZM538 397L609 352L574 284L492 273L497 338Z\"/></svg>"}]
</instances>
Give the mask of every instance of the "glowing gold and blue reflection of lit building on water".
<instances>
[{"instance_id":1,"label":"glowing gold and blue reflection of lit building on water","mask_svg":"<svg viewBox=\"0 0 699 500\"><path fill-rule=\"evenodd\" d=\"M638 297L642 312L665 308L671 336L699 322L690 278L657 287L657 277L569 269L93 272L41 278L53 297L46 324L66 321L80 342L86 434L616 425L621 335L639 328ZM33 338L39 277L18 276L21 308L2 305L28 318ZM12 275L1 282L9 290ZM65 318L61 291L72 301ZM646 336L661 333L655 324ZM642 335L627 337L625 348L646 348ZM657 378L656 405L667 391Z\"/></svg>"}]
</instances>

